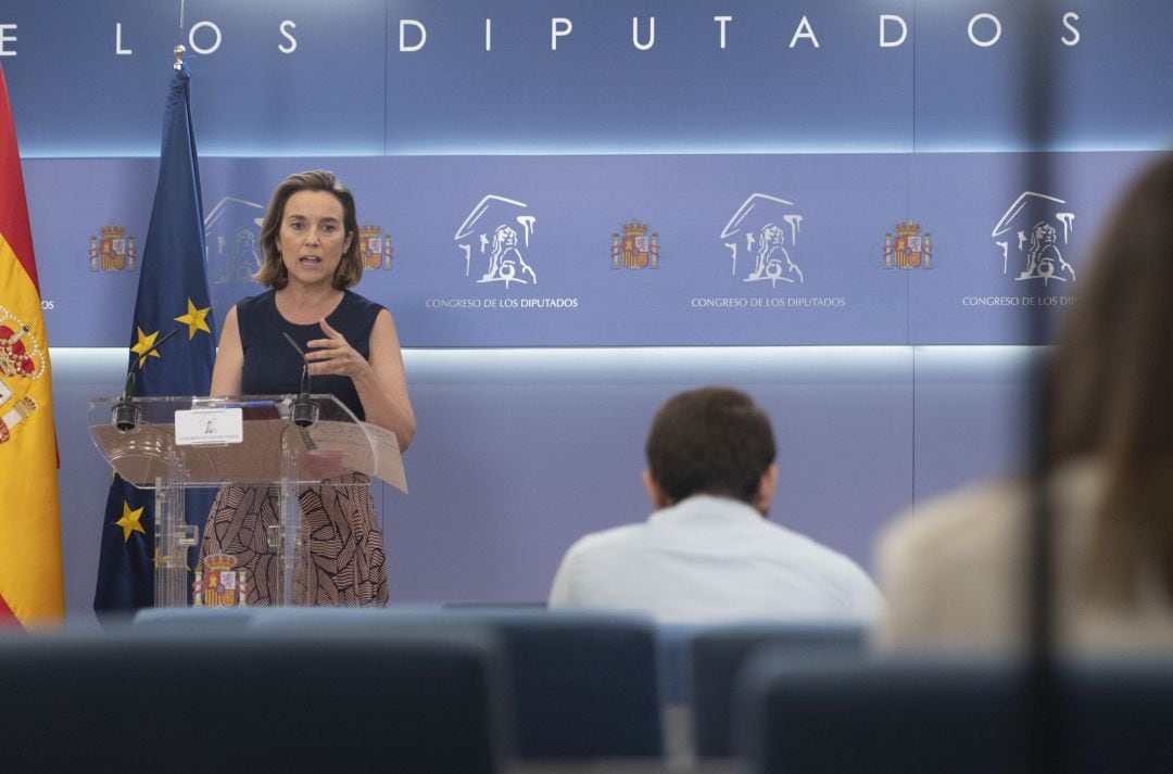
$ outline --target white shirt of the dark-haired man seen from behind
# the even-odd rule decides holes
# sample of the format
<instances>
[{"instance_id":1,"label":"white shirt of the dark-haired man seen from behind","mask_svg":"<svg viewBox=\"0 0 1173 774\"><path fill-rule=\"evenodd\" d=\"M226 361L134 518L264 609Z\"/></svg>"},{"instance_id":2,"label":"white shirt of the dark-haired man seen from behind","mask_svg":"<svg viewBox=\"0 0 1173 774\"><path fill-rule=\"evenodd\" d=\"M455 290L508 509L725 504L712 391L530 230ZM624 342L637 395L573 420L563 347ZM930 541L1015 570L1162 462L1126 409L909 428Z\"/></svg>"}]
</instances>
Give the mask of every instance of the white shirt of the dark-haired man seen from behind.
<instances>
[{"instance_id":1,"label":"white shirt of the dark-haired man seen from behind","mask_svg":"<svg viewBox=\"0 0 1173 774\"><path fill-rule=\"evenodd\" d=\"M554 578L550 606L636 611L671 623L867 623L881 598L846 556L744 502L697 495L644 523L576 542Z\"/></svg>"}]
</instances>

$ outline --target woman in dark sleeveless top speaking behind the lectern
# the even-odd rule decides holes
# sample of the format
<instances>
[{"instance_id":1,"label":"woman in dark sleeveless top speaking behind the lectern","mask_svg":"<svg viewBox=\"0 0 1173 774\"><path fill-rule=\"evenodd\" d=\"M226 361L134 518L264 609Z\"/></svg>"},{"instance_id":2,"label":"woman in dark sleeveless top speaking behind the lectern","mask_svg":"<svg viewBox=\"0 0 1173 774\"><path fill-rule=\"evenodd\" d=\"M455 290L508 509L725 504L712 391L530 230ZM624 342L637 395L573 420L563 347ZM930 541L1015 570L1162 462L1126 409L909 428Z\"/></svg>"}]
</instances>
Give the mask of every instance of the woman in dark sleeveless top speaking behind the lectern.
<instances>
[{"instance_id":1,"label":"woman in dark sleeveless top speaking behind the lectern","mask_svg":"<svg viewBox=\"0 0 1173 774\"><path fill-rule=\"evenodd\" d=\"M354 196L332 172L299 172L278 185L260 228L256 276L269 290L229 310L211 394L296 394L306 366L312 392L392 430L405 450L415 415L395 324L382 305L350 290L362 277L358 229ZM296 595L311 605L385 604L386 555L369 478L344 473L324 483L298 489L313 561L308 577L294 577ZM249 605L278 600L282 556L269 543L278 516L276 487L225 487L208 516L201 566L209 555L235 557L249 570Z\"/></svg>"}]
</instances>

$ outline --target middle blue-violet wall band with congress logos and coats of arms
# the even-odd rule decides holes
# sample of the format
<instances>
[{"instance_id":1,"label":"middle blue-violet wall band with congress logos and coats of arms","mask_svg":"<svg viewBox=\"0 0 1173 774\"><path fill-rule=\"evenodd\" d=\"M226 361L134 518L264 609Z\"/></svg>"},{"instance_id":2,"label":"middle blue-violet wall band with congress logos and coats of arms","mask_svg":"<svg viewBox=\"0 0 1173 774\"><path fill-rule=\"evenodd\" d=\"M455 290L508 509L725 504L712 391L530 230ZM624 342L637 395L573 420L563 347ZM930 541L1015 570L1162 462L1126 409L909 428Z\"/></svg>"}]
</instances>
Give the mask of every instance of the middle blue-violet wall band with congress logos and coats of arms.
<instances>
[{"instance_id":1,"label":"middle blue-violet wall band with congress logos and coats of arms","mask_svg":"<svg viewBox=\"0 0 1173 774\"><path fill-rule=\"evenodd\" d=\"M1037 185L1023 154L212 158L208 271L221 322L262 290L269 191L325 165L378 247L360 290L406 346L1037 344L1028 317L1078 300L1099 223L1147 157L1055 154ZM154 169L27 162L55 346L128 340L136 272L103 269L102 245L115 228L141 251ZM647 244L629 265L633 228ZM901 229L922 240L903 267Z\"/></svg>"}]
</instances>

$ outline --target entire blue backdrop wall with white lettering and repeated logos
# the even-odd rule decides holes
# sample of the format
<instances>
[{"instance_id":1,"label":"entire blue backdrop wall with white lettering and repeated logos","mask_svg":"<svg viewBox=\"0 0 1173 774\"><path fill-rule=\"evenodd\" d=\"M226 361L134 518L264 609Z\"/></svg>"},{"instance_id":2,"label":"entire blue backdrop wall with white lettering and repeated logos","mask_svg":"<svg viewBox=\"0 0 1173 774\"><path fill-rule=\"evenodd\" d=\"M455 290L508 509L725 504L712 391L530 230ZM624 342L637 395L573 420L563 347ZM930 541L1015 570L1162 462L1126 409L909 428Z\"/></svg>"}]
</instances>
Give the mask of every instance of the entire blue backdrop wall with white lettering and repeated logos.
<instances>
[{"instance_id":1,"label":"entire blue backdrop wall with white lettering and repeated logos","mask_svg":"<svg viewBox=\"0 0 1173 774\"><path fill-rule=\"evenodd\" d=\"M1078 303L1173 123L1167 4L1055 0L1037 27L1022 5L7 4L70 616L109 474L84 402L121 386L177 41L218 318L259 290L282 177L357 193L360 291L395 314L420 419L411 495L381 496L393 597L540 599L575 537L645 515L677 389L761 401L774 517L865 565L894 511L1015 469L1026 315Z\"/></svg>"}]
</instances>

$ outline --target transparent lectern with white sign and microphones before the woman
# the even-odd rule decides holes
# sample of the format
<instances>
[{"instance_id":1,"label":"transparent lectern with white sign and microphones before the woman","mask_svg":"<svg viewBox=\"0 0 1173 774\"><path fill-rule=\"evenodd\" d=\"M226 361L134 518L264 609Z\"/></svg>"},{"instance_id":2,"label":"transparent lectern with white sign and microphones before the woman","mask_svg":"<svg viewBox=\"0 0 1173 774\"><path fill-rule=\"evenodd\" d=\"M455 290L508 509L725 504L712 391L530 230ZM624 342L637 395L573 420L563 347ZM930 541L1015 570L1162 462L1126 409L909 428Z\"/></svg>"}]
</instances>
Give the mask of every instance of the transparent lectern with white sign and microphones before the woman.
<instances>
[{"instance_id":1,"label":"transparent lectern with white sign and microphones before the woman","mask_svg":"<svg viewBox=\"0 0 1173 774\"><path fill-rule=\"evenodd\" d=\"M184 512L189 488L277 489L279 523L267 543L280 556L280 597L273 602L283 605L314 602L294 583L300 572L308 577L313 561L299 488L369 486L324 483L357 471L407 491L395 434L359 421L332 395L99 398L89 401L89 427L118 475L155 490L156 607L244 602L243 575L188 565L188 549L199 544L198 528Z\"/></svg>"}]
</instances>

